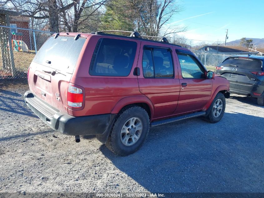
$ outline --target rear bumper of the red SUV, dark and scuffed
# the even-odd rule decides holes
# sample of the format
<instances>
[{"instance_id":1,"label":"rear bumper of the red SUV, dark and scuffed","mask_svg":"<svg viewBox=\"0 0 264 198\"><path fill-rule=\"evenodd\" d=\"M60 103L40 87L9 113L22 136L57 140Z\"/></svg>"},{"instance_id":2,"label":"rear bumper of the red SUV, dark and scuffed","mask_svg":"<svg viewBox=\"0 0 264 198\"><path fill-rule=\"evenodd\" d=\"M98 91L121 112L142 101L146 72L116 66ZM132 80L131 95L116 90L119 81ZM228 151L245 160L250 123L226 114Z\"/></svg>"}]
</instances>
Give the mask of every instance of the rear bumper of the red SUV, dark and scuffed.
<instances>
[{"instance_id":1,"label":"rear bumper of the red SUV, dark and scuffed","mask_svg":"<svg viewBox=\"0 0 264 198\"><path fill-rule=\"evenodd\" d=\"M108 137L113 120L116 117L116 114L74 117L62 113L60 110L47 104L31 91L27 91L24 94L24 99L29 109L42 119L43 122L65 135L99 135L100 137Z\"/></svg>"}]
</instances>

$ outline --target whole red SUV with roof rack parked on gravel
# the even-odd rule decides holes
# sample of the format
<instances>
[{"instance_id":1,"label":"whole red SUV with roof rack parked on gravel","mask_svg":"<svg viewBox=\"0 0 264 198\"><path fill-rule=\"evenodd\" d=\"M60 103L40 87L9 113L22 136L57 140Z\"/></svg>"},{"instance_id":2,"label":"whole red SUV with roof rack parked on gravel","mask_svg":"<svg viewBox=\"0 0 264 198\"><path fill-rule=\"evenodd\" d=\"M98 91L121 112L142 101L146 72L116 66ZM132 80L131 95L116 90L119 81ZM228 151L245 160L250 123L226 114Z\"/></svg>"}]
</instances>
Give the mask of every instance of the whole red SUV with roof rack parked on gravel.
<instances>
[{"instance_id":1,"label":"whole red SUV with roof rack parked on gravel","mask_svg":"<svg viewBox=\"0 0 264 198\"><path fill-rule=\"evenodd\" d=\"M227 79L207 71L188 49L97 33L50 37L28 69L27 106L65 135L96 135L118 155L143 144L149 127L204 116L222 119Z\"/></svg>"}]
</instances>

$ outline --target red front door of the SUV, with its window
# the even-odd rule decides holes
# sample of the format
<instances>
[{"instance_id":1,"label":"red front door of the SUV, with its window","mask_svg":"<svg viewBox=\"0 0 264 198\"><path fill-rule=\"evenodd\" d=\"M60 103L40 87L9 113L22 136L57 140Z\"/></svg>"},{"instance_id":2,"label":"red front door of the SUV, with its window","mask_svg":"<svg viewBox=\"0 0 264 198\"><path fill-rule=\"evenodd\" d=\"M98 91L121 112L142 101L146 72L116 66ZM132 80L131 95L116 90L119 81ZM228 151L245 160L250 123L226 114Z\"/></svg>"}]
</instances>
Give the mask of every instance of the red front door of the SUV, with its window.
<instances>
[{"instance_id":1,"label":"red front door of the SUV, with its window","mask_svg":"<svg viewBox=\"0 0 264 198\"><path fill-rule=\"evenodd\" d=\"M212 79L206 79L206 70L191 53L177 51L179 59L180 96L175 114L202 110L209 102Z\"/></svg>"}]
</instances>

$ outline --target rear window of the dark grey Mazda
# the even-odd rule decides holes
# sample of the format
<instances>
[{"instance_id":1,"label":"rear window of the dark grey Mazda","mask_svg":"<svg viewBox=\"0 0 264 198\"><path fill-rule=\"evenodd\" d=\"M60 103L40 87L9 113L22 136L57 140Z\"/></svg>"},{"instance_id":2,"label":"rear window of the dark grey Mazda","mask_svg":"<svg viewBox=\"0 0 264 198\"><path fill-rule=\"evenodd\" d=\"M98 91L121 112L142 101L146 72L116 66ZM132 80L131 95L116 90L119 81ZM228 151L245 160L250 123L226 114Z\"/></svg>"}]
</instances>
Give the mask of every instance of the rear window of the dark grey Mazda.
<instances>
[{"instance_id":1,"label":"rear window of the dark grey Mazda","mask_svg":"<svg viewBox=\"0 0 264 198\"><path fill-rule=\"evenodd\" d=\"M247 59L247 58L228 58L223 63L223 66L241 67L248 69L260 69L262 68L261 60Z\"/></svg>"}]
</instances>

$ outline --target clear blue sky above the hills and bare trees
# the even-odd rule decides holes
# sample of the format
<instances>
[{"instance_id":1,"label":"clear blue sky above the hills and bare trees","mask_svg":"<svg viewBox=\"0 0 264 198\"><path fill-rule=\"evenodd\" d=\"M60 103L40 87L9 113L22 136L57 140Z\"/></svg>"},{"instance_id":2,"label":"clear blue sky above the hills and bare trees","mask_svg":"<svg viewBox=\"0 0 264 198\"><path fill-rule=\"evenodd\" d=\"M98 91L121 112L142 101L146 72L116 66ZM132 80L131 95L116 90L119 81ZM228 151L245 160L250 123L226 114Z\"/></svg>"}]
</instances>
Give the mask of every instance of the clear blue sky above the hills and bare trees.
<instances>
[{"instance_id":1,"label":"clear blue sky above the hills and bare trees","mask_svg":"<svg viewBox=\"0 0 264 198\"><path fill-rule=\"evenodd\" d=\"M263 0L178 0L177 4L183 11L172 16L168 25L187 26L179 36L223 43L228 29L227 42L243 37L264 38Z\"/></svg>"}]
</instances>

